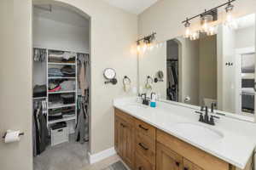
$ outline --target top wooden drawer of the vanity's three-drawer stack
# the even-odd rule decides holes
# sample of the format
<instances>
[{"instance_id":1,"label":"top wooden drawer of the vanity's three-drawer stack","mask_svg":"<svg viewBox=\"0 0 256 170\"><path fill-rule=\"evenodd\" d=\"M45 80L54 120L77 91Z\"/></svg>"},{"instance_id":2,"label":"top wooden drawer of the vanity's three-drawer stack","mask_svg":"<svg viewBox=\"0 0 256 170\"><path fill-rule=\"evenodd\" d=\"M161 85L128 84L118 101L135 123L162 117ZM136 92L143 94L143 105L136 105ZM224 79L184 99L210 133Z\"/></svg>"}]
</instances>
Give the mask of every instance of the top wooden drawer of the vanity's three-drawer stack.
<instances>
[{"instance_id":1,"label":"top wooden drawer of the vanity's three-drawer stack","mask_svg":"<svg viewBox=\"0 0 256 170\"><path fill-rule=\"evenodd\" d=\"M138 119L136 119L135 124L138 132L147 135L151 139L155 139L155 127Z\"/></svg>"}]
</instances>

